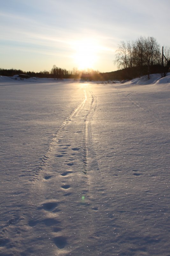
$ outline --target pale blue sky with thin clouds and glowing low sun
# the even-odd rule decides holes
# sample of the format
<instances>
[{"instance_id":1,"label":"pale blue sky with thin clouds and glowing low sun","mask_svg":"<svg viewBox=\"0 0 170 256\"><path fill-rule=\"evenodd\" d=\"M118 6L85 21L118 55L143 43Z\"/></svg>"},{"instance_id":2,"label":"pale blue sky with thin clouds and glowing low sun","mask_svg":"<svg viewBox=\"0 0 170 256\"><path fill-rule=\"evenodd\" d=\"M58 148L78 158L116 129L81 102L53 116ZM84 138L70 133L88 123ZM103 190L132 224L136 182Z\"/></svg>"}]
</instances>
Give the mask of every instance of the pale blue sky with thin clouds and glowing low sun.
<instances>
[{"instance_id":1,"label":"pale blue sky with thin clouds and glowing low sun","mask_svg":"<svg viewBox=\"0 0 170 256\"><path fill-rule=\"evenodd\" d=\"M5 0L0 68L117 70L121 41L153 36L170 46L169 0Z\"/></svg>"}]
</instances>

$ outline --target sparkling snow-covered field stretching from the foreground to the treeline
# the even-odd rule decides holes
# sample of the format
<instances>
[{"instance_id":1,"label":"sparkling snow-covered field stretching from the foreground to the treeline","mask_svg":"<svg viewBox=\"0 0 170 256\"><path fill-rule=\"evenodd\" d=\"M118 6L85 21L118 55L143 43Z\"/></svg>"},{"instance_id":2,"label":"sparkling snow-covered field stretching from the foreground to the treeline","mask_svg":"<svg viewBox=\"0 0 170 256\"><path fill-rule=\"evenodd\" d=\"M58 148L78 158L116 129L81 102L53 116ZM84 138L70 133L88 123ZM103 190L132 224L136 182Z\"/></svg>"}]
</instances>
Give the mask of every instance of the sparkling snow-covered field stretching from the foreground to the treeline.
<instances>
[{"instance_id":1,"label":"sparkling snow-covered field stretching from the foreground to the treeline","mask_svg":"<svg viewBox=\"0 0 170 256\"><path fill-rule=\"evenodd\" d=\"M170 255L170 75L0 76L0 255Z\"/></svg>"}]
</instances>

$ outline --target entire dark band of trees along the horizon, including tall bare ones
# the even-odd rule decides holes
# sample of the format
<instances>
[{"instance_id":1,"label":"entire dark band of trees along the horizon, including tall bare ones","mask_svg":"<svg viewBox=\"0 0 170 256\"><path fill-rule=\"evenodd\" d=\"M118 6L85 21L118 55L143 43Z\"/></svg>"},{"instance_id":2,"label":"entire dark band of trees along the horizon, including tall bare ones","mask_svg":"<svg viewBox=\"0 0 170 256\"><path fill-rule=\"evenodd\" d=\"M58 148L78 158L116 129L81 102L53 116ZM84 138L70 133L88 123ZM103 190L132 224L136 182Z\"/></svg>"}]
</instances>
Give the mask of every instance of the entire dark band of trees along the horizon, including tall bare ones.
<instances>
[{"instance_id":1,"label":"entire dark band of trees along the horizon, including tall bare ones","mask_svg":"<svg viewBox=\"0 0 170 256\"><path fill-rule=\"evenodd\" d=\"M72 78L94 81L122 81L136 77L159 73L166 76L170 68L170 47L164 46L162 49L153 37L140 37L136 41L122 41L118 45L116 58L114 60L118 70L101 73L92 69L66 70L53 65L51 71L22 71L17 69L0 69L0 75L13 76L16 74L26 74L30 77L39 78Z\"/></svg>"}]
</instances>

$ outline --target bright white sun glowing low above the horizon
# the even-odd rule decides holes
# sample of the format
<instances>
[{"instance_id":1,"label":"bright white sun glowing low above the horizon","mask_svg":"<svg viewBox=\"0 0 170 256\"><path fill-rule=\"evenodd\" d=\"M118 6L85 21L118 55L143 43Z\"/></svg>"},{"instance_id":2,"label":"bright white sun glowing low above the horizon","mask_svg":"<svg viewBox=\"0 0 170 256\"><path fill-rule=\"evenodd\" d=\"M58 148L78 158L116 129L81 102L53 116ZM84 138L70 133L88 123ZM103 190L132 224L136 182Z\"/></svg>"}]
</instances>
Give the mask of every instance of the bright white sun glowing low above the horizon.
<instances>
[{"instance_id":1,"label":"bright white sun glowing low above the horizon","mask_svg":"<svg viewBox=\"0 0 170 256\"><path fill-rule=\"evenodd\" d=\"M92 39L75 42L74 62L78 69L94 68L97 62L97 45Z\"/></svg>"}]
</instances>

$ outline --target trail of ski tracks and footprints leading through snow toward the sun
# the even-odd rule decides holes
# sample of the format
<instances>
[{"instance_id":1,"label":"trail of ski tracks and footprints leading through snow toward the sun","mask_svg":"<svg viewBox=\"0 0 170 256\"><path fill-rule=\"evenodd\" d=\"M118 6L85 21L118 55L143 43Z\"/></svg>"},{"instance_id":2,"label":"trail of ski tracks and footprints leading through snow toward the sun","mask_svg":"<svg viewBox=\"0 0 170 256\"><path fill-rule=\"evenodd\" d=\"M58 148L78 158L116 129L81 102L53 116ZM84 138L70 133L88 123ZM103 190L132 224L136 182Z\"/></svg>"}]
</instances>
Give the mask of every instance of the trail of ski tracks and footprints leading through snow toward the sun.
<instances>
[{"instance_id":1,"label":"trail of ski tracks and footprints leading through snow toward the sun","mask_svg":"<svg viewBox=\"0 0 170 256\"><path fill-rule=\"evenodd\" d=\"M91 236L95 228L91 211L96 213L98 207L92 199L89 172L99 169L91 143L91 119L96 104L95 95L85 86L81 104L54 135L35 172L32 193L37 194L37 200L32 202L32 214L26 224L27 239L31 239L30 232L43 234L41 248L40 244L33 244L34 248L25 248L22 255L47 255L49 247L51 255L79 255L80 244L93 246Z\"/></svg>"}]
</instances>

